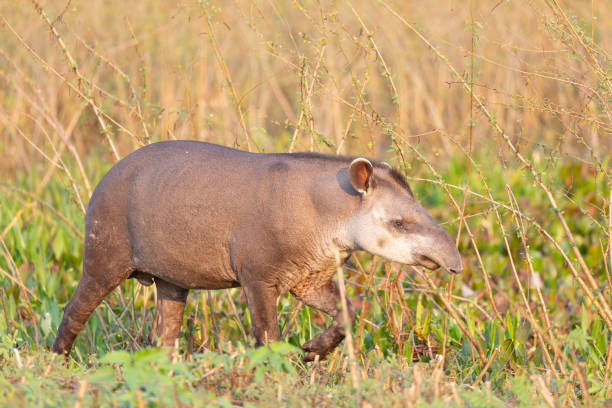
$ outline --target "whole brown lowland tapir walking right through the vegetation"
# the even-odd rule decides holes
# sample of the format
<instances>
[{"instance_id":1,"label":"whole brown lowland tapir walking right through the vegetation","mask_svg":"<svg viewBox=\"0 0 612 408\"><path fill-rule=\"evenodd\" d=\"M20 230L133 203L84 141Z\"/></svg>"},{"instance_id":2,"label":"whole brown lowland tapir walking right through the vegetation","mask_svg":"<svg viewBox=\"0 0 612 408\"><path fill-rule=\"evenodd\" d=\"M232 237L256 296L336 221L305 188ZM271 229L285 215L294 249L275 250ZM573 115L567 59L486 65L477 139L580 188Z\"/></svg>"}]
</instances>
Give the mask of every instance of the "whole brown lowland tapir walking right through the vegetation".
<instances>
[{"instance_id":1,"label":"whole brown lowland tapir walking right through the vegetation","mask_svg":"<svg viewBox=\"0 0 612 408\"><path fill-rule=\"evenodd\" d=\"M83 276L53 351L67 355L94 309L119 284L155 283L149 341L173 345L190 289L241 286L256 344L279 339L287 291L333 317L306 342L305 360L344 338L337 254L457 273L448 233L384 162L316 153L248 153L197 141L145 146L95 189L85 216ZM354 312L350 302L349 316Z\"/></svg>"}]
</instances>

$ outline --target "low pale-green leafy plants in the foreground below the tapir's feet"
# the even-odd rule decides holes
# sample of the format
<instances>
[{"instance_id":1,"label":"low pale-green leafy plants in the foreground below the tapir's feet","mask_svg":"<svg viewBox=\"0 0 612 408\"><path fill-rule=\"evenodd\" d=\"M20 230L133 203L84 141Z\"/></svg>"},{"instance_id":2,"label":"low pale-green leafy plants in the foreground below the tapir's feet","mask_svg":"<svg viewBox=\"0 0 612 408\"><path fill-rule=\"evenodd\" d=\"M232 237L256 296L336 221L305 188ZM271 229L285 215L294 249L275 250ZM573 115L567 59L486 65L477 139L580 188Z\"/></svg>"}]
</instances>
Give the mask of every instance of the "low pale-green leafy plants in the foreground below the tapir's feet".
<instances>
[{"instance_id":1,"label":"low pale-green leafy plants in the foreground below the tapir's feet","mask_svg":"<svg viewBox=\"0 0 612 408\"><path fill-rule=\"evenodd\" d=\"M484 385L455 385L433 364L408 364L401 357L372 352L362 369L367 378L355 390L338 372L297 363L285 354L290 349L286 343L274 343L270 349L267 359L256 364L252 362L259 350L195 354L189 362L173 362L164 349L118 351L92 359L88 368L67 368L49 354L32 355L22 362L23 368L11 367L7 373L3 367L0 396L4 406L72 406L77 400L83 406L350 407L359 402L405 406L408 401L440 407L545 406L527 373L507 379L502 396ZM12 352L2 352L13 358Z\"/></svg>"}]
</instances>

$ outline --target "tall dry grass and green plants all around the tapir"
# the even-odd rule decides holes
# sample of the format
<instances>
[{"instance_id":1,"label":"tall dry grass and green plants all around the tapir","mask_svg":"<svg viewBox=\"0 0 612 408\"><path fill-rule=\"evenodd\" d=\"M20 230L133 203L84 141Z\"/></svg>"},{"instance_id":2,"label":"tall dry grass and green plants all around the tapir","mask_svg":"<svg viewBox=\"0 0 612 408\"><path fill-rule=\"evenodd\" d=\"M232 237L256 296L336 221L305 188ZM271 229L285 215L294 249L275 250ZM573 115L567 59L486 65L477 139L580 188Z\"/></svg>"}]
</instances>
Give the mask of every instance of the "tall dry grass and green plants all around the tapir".
<instances>
[{"instance_id":1,"label":"tall dry grass and green plants all around the tapir","mask_svg":"<svg viewBox=\"0 0 612 408\"><path fill-rule=\"evenodd\" d=\"M597 0L3 2L0 401L607 406L611 20ZM290 295L282 342L252 347L232 289L191 293L158 349L154 289L131 280L65 363L49 348L92 189L168 139L387 160L465 270L354 254L354 347L308 364L328 319Z\"/></svg>"}]
</instances>

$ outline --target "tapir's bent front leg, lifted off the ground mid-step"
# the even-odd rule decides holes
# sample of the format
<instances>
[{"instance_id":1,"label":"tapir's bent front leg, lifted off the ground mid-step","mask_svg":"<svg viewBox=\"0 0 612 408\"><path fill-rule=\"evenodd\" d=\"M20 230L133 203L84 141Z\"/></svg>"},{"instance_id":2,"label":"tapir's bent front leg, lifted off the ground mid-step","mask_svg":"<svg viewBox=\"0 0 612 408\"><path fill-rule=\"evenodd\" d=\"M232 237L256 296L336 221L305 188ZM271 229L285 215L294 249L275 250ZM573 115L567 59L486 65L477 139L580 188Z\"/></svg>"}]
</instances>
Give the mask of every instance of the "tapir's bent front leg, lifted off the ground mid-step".
<instances>
[{"instance_id":1,"label":"tapir's bent front leg, lifted off the ground mid-step","mask_svg":"<svg viewBox=\"0 0 612 408\"><path fill-rule=\"evenodd\" d=\"M312 283L316 283L313 279ZM291 289L291 293L308 306L319 309L333 318L332 324L324 331L318 333L311 340L302 345L306 351L304 361L312 361L315 356L324 358L331 353L338 344L344 339L344 318L342 306L340 305L340 291L338 285L332 280L328 280L322 286L311 284L309 278L300 282ZM346 299L350 322L355 318L353 305Z\"/></svg>"}]
</instances>

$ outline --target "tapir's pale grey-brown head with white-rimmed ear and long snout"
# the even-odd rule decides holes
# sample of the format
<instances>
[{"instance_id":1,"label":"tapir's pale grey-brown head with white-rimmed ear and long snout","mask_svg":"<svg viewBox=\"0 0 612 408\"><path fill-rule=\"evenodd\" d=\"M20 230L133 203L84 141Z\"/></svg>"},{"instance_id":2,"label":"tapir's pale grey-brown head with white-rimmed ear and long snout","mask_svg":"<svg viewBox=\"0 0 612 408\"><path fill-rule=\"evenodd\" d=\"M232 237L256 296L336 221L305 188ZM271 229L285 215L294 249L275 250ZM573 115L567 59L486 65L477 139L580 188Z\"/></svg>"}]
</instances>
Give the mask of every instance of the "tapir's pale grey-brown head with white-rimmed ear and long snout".
<instances>
[{"instance_id":1,"label":"tapir's pale grey-brown head with white-rimmed ear and long snout","mask_svg":"<svg viewBox=\"0 0 612 408\"><path fill-rule=\"evenodd\" d=\"M455 243L415 200L400 173L386 163L373 166L358 158L350 164L348 176L361 197L348 223L357 248L391 261L461 272Z\"/></svg>"}]
</instances>

